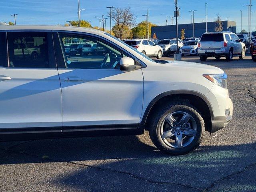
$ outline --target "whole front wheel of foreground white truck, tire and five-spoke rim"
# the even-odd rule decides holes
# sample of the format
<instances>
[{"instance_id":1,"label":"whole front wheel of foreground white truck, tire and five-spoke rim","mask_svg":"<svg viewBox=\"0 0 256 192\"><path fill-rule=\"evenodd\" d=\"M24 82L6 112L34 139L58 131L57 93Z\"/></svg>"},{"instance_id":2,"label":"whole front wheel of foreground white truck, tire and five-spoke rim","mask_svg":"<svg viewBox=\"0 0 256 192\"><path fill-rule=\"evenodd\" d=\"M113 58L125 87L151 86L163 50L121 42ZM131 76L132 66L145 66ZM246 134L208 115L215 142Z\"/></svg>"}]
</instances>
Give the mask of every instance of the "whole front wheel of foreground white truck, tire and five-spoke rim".
<instances>
[{"instance_id":1,"label":"whole front wheel of foreground white truck, tire and five-spoke rim","mask_svg":"<svg viewBox=\"0 0 256 192\"><path fill-rule=\"evenodd\" d=\"M181 155L199 146L204 133L204 120L199 112L184 102L169 102L154 113L149 135L163 152Z\"/></svg>"}]
</instances>

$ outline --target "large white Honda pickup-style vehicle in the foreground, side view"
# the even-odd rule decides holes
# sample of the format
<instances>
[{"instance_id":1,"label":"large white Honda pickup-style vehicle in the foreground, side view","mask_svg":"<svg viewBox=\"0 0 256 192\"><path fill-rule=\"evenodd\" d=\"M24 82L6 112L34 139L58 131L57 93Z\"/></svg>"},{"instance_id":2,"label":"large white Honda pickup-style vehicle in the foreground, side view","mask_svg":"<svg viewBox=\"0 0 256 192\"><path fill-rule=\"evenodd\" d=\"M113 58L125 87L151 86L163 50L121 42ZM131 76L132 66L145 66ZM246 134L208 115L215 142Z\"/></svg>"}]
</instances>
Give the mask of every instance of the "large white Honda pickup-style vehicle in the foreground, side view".
<instances>
[{"instance_id":1,"label":"large white Honda pickup-style vehicle in the foreground, side view","mask_svg":"<svg viewBox=\"0 0 256 192\"><path fill-rule=\"evenodd\" d=\"M86 28L0 26L0 42L2 141L148 130L160 150L186 154L232 118L227 76L214 66L156 62ZM67 58L64 44L78 42L101 54ZM25 56L28 46L40 50L36 58Z\"/></svg>"}]
</instances>

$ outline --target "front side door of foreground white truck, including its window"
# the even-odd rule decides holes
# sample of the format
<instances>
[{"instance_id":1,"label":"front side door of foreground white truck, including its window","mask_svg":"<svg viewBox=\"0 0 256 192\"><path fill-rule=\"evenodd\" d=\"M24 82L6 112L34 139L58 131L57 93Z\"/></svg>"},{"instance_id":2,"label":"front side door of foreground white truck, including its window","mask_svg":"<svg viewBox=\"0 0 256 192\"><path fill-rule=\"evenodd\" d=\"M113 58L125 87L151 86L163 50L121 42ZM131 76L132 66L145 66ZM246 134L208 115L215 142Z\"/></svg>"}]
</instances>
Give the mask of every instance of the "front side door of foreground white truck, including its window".
<instances>
[{"instance_id":1,"label":"front side door of foreground white truck, including its window","mask_svg":"<svg viewBox=\"0 0 256 192\"><path fill-rule=\"evenodd\" d=\"M64 44L70 43L70 38L96 43L106 52L67 58ZM63 130L76 126L138 126L143 103L139 64L136 70L121 71L120 59L131 56L93 34L56 32L57 39L54 47L62 87Z\"/></svg>"}]
</instances>

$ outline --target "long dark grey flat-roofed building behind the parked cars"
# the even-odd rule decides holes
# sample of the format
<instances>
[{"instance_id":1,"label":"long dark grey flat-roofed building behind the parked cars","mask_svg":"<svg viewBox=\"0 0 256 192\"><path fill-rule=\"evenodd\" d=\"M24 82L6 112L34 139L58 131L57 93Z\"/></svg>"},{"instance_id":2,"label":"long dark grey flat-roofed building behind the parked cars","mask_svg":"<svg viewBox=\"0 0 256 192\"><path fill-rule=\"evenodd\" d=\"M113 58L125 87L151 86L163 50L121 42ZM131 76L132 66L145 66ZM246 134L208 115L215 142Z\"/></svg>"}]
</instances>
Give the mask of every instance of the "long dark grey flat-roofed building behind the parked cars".
<instances>
[{"instance_id":1,"label":"long dark grey flat-roofed building behind the parked cars","mask_svg":"<svg viewBox=\"0 0 256 192\"><path fill-rule=\"evenodd\" d=\"M205 22L204 23L195 23L194 24L194 33L195 37L200 37L205 32ZM215 22L207 22L207 31L213 32L215 28ZM178 25L178 37L180 38L181 29L185 29L185 38L193 37L193 24L179 24ZM223 21L223 30L224 31L232 31L236 32L236 22L234 21ZM151 34L156 33L158 39L166 39L166 38L176 38L176 26L175 25L167 25L167 26L155 26L151 27Z\"/></svg>"}]
</instances>

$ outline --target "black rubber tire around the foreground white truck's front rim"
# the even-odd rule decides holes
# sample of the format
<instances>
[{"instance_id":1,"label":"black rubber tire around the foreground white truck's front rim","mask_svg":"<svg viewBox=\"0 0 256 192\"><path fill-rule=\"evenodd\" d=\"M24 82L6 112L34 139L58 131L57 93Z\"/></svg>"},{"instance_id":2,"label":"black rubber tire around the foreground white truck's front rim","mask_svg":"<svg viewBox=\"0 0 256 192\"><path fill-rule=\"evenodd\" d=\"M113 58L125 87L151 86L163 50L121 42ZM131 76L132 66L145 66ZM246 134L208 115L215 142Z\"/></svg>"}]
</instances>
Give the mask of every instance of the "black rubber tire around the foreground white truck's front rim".
<instances>
[{"instance_id":1,"label":"black rubber tire around the foreground white truck's front rim","mask_svg":"<svg viewBox=\"0 0 256 192\"><path fill-rule=\"evenodd\" d=\"M161 125L166 116L168 114L173 113L173 112L186 112L196 122L196 134L194 136L194 139L190 144L187 146L181 147L181 148L175 148L172 146L169 146L164 142L164 140L161 137ZM195 148L197 148L203 138L204 135L204 119L202 116L199 114L198 110L194 107L191 106L190 104L187 104L185 102L168 102L162 106L160 106L155 112L152 117L152 123L150 124L149 127L149 135L154 143L154 145L160 149L163 152L166 152L168 154L172 155L182 155L182 154L187 154L191 151L193 151ZM184 139L184 138L183 138Z\"/></svg>"}]
</instances>

